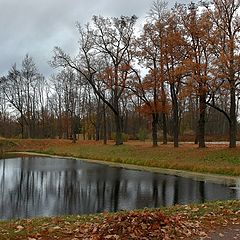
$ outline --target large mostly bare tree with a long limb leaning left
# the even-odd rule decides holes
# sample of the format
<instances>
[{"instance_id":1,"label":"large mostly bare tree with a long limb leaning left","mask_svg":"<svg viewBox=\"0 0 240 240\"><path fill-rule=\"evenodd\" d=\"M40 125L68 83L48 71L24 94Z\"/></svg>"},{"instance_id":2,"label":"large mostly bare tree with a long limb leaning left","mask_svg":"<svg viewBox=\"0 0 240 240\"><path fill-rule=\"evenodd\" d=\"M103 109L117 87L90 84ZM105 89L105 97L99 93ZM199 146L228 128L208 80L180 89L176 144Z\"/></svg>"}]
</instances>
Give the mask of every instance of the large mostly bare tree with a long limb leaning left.
<instances>
[{"instance_id":1,"label":"large mostly bare tree with a long limb leaning left","mask_svg":"<svg viewBox=\"0 0 240 240\"><path fill-rule=\"evenodd\" d=\"M132 42L136 17L103 18L93 17L94 27L89 25L84 31L79 25L80 49L78 59L71 59L60 48L55 48L53 66L68 66L89 82L94 92L112 110L115 116L116 145L122 144L122 116L119 99L124 91L128 75L129 47ZM105 69L108 79L98 78L96 62L108 59ZM97 81L104 81L110 99L97 88Z\"/></svg>"}]
</instances>

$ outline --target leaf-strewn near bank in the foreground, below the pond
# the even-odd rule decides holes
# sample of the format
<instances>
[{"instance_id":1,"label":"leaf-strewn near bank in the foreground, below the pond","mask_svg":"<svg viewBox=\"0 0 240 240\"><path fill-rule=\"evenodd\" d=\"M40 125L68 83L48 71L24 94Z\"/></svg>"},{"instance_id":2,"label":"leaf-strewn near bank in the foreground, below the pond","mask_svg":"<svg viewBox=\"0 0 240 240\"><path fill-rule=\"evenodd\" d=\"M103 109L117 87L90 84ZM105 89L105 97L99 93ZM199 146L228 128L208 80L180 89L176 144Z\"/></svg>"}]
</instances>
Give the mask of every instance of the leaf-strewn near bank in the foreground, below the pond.
<instances>
[{"instance_id":1,"label":"leaf-strewn near bank in the foreground, below the pond","mask_svg":"<svg viewBox=\"0 0 240 240\"><path fill-rule=\"evenodd\" d=\"M0 223L0 239L238 239L240 201ZM212 238L210 238L210 236ZM228 236L228 235L226 235ZM218 238L219 237L219 238Z\"/></svg>"}]
</instances>

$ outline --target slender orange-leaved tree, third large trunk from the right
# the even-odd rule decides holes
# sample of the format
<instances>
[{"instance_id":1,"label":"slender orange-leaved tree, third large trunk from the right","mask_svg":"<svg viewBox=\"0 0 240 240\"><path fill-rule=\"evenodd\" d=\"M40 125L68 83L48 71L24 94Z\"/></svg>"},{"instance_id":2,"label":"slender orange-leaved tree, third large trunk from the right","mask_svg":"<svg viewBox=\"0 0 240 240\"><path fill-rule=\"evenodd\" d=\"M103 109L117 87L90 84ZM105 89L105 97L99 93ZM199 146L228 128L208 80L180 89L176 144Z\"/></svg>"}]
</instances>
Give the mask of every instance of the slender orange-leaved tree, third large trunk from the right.
<instances>
[{"instance_id":1,"label":"slender orange-leaved tree, third large trunk from the right","mask_svg":"<svg viewBox=\"0 0 240 240\"><path fill-rule=\"evenodd\" d=\"M185 68L183 61L186 57L186 42L183 37L182 27L179 26L179 16L172 11L166 19L166 34L163 37L164 45L164 65L166 68L165 76L170 88L171 110L172 110L172 132L174 147L179 146L180 114L179 104L180 94L183 91L183 78Z\"/></svg>"}]
</instances>

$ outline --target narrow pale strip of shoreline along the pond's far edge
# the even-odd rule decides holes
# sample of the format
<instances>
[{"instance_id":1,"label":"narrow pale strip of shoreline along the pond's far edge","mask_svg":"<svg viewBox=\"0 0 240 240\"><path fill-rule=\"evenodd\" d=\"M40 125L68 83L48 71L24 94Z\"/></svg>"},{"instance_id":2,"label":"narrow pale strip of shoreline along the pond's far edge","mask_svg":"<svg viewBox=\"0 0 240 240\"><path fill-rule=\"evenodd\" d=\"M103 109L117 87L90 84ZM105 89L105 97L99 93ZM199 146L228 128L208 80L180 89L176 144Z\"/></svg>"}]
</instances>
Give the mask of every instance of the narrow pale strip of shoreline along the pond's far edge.
<instances>
[{"instance_id":1,"label":"narrow pale strip of shoreline along the pond's far edge","mask_svg":"<svg viewBox=\"0 0 240 240\"><path fill-rule=\"evenodd\" d=\"M51 154L37 153L37 152L8 152L8 153L16 154L17 156L18 155L28 155L28 156L43 156L43 157L52 157L52 158L76 159L76 160L85 161L85 162L89 162L89 163L108 165L111 167L120 167L120 168L131 169L131 170L148 171L148 172L153 172L153 173L175 175L175 176L179 176L179 177L191 178L191 179L197 180L197 181L208 181L208 182L226 184L226 185L232 185L232 184L235 184L236 182L240 183L240 177L221 175L221 174L200 173L200 172L192 172L192 171L186 171L186 170L148 167L148 166L141 166L141 165L134 165L134 164L125 164L125 163L78 158L78 157L69 157L69 156L62 156L62 155L61 156L60 155L51 155Z\"/></svg>"}]
</instances>

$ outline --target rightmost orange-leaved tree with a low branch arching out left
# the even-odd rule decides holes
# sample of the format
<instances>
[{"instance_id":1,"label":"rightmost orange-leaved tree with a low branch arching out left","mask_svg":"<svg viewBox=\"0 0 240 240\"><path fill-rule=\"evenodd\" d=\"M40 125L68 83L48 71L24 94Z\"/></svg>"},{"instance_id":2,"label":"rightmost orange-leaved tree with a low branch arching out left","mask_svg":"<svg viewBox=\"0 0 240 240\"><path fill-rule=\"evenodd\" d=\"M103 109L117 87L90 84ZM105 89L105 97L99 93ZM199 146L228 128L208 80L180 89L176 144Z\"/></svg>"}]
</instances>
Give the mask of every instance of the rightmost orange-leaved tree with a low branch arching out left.
<instances>
[{"instance_id":1,"label":"rightmost orange-leaved tree with a low branch arching out left","mask_svg":"<svg viewBox=\"0 0 240 240\"><path fill-rule=\"evenodd\" d=\"M238 0L213 0L212 3L204 2L203 6L209 14L215 27L214 53L215 61L213 74L218 79L219 85L212 92L212 101L208 104L223 113L229 122L229 147L236 147L237 136L237 109L236 98L240 84L240 18ZM216 102L217 92L228 91L230 109L225 110Z\"/></svg>"}]
</instances>

